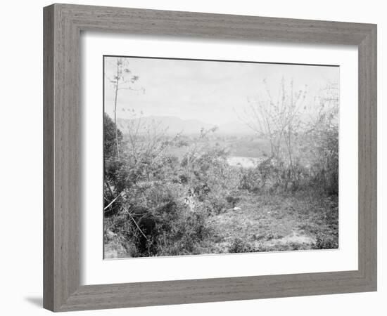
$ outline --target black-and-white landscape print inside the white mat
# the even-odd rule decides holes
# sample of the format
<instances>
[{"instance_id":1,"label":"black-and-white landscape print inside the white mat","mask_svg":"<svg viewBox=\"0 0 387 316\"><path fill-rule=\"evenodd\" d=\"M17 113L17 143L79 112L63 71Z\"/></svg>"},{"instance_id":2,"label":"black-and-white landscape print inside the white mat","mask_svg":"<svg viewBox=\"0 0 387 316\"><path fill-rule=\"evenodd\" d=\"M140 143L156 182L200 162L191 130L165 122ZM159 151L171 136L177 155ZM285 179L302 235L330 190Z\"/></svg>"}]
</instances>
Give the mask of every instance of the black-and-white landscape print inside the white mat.
<instances>
[{"instance_id":1,"label":"black-and-white landscape print inside the white mat","mask_svg":"<svg viewBox=\"0 0 387 316\"><path fill-rule=\"evenodd\" d=\"M103 56L104 258L338 249L339 72Z\"/></svg>"}]
</instances>

